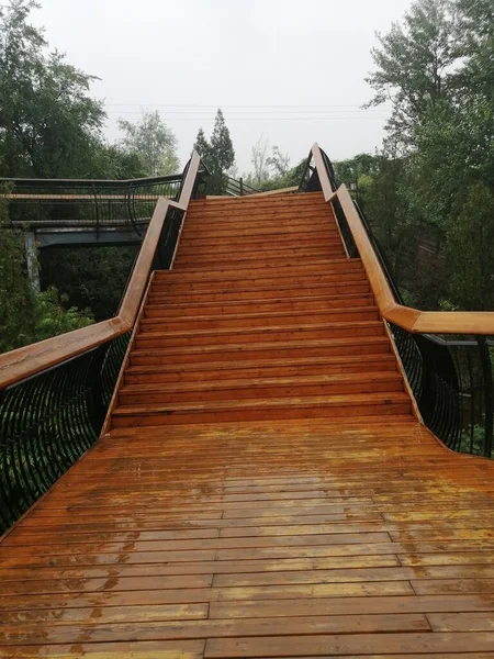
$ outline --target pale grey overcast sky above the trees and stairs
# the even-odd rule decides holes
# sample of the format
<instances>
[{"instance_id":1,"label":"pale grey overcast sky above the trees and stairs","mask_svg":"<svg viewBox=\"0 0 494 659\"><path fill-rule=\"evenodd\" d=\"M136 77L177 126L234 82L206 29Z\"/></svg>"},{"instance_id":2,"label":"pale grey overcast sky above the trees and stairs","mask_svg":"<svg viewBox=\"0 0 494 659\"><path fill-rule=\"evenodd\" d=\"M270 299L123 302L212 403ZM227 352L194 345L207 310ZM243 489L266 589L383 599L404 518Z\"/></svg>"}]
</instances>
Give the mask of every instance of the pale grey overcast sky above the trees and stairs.
<instances>
[{"instance_id":1,"label":"pale grey overcast sky above the trees and stairs","mask_svg":"<svg viewBox=\"0 0 494 659\"><path fill-rule=\"evenodd\" d=\"M411 0L40 0L33 20L70 64L101 78L92 87L116 120L158 109L183 166L199 126L217 108L239 174L263 136L295 165L314 142L333 159L380 146L389 109L362 111L371 90L374 32Z\"/></svg>"}]
</instances>

